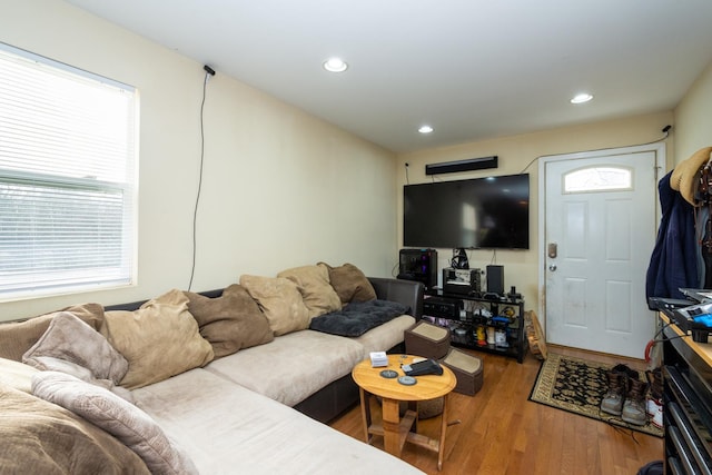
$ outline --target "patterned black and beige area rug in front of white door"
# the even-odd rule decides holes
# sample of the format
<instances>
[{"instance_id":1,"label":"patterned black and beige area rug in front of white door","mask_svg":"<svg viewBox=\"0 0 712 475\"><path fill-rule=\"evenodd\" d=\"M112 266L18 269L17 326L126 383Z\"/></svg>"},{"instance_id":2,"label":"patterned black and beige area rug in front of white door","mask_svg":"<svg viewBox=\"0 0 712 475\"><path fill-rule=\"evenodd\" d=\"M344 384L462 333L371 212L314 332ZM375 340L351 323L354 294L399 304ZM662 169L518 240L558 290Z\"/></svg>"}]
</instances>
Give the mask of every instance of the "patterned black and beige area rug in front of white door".
<instances>
[{"instance_id":1,"label":"patterned black and beige area rug in front of white door","mask_svg":"<svg viewBox=\"0 0 712 475\"><path fill-rule=\"evenodd\" d=\"M663 431L650 423L636 426L600 409L601 399L607 389L605 374L612 367L613 365L550 353L538 370L530 400L662 437ZM645 375L641 373L640 377L644 380Z\"/></svg>"}]
</instances>

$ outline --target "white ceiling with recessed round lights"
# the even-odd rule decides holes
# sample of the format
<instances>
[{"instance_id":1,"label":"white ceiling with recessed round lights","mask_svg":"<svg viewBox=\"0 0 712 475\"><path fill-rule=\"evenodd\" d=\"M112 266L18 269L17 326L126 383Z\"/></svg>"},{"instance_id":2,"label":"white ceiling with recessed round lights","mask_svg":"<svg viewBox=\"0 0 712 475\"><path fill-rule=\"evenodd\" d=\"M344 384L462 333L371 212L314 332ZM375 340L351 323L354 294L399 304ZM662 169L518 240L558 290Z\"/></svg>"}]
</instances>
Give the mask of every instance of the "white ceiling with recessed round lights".
<instances>
[{"instance_id":1,"label":"white ceiling with recessed round lights","mask_svg":"<svg viewBox=\"0 0 712 475\"><path fill-rule=\"evenodd\" d=\"M671 110L712 61L710 0L68 1L397 152Z\"/></svg>"}]
</instances>

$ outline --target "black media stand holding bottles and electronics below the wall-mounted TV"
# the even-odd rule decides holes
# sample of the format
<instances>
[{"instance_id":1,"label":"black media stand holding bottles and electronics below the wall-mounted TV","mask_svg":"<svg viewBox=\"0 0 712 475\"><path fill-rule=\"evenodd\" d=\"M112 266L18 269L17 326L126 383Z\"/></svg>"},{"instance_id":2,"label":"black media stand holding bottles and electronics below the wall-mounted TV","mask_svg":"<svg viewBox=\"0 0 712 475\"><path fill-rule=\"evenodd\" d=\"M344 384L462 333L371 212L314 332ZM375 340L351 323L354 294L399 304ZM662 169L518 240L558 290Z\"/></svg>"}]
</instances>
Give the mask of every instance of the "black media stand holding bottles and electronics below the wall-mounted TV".
<instances>
[{"instance_id":1,"label":"black media stand holding bottles and electronics below the wall-mounted TV","mask_svg":"<svg viewBox=\"0 0 712 475\"><path fill-rule=\"evenodd\" d=\"M451 344L524 360L524 300L521 297L426 291L423 319L451 330Z\"/></svg>"}]
</instances>

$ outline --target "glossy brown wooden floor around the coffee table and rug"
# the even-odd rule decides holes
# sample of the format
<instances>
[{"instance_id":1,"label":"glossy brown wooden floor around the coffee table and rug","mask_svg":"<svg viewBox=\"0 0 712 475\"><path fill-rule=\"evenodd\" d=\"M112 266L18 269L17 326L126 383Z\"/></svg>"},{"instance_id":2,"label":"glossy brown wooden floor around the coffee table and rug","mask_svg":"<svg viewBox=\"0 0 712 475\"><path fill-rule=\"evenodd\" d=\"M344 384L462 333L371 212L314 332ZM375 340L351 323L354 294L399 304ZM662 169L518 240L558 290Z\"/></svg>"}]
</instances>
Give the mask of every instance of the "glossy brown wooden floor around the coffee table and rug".
<instances>
[{"instance_id":1,"label":"glossy brown wooden floor around the coffee table and rug","mask_svg":"<svg viewBox=\"0 0 712 475\"><path fill-rule=\"evenodd\" d=\"M604 363L625 363L644 369L639 360L551 348L568 356ZM475 396L453 393L445 462L437 471L437 454L406 444L403 459L428 474L605 474L634 475L663 457L663 441L631 433L587 417L527 400L540 362L528 355L524 363L498 355L472 352L484 362L484 385ZM374 417L379 417L374 404ZM439 417L421 420L418 432L437 437ZM352 437L364 439L360 412L354 407L329 424ZM374 445L383 448L383 438ZM396 475L396 474L394 474Z\"/></svg>"}]
</instances>

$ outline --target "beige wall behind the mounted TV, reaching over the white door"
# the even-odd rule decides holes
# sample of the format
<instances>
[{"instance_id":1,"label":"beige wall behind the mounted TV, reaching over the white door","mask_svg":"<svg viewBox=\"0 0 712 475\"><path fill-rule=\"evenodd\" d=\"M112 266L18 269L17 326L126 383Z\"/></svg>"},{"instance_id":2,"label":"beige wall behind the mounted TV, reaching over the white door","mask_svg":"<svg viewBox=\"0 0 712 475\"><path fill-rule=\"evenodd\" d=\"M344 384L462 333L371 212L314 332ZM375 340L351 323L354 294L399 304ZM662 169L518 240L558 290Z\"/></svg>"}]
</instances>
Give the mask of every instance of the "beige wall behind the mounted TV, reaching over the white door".
<instances>
[{"instance_id":1,"label":"beige wall behind the mounted TV, reaching over the white door","mask_svg":"<svg viewBox=\"0 0 712 475\"><path fill-rule=\"evenodd\" d=\"M425 175L426 164L496 155L500 157L497 169L441 175L436 179L455 180L490 175L512 175L523 172L525 169L531 175L530 250L497 250L496 264L504 265L505 288L508 289L511 286L516 286L517 291L522 293L526 300L526 308L538 310L537 279L541 263L537 235L540 192L537 190L538 164L536 159L550 155L626 147L654 141L663 137L663 127L672 123L672 111L660 112L400 155L398 156L399 171L396 179L398 192L397 216L399 217L398 245L403 244L403 219L400 217L403 216L403 185L406 184L406 162L408 164L409 182L419 184L432 180L432 177ZM673 152L671 148L672 137L666 142L669 162L671 162ZM492 250L472 250L468 251L468 256L469 266L473 268L484 269L494 259ZM449 267L451 257L452 249L438 249L438 269Z\"/></svg>"}]
</instances>

